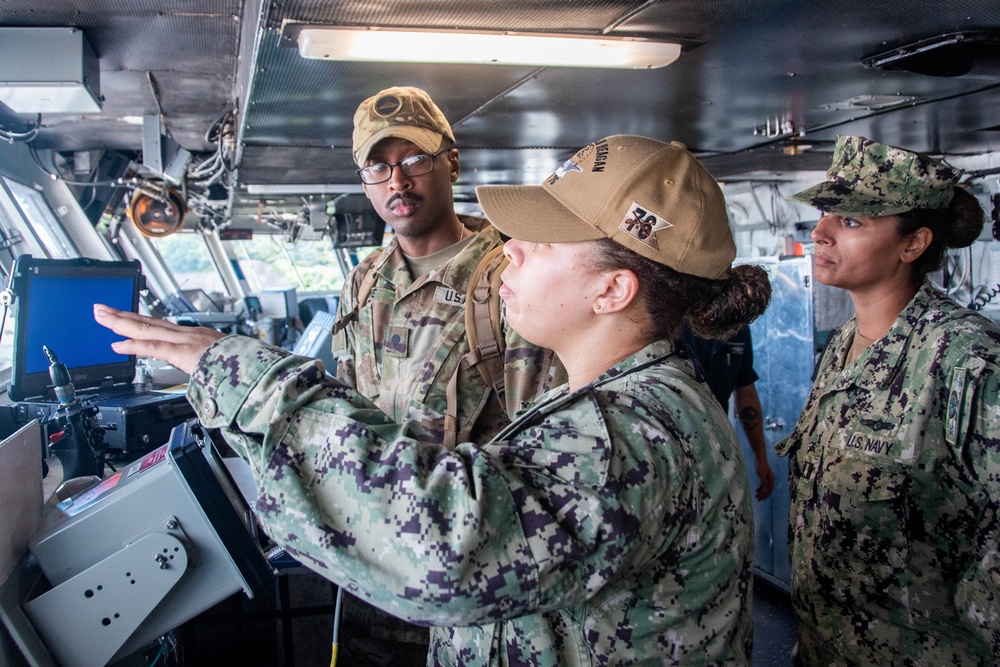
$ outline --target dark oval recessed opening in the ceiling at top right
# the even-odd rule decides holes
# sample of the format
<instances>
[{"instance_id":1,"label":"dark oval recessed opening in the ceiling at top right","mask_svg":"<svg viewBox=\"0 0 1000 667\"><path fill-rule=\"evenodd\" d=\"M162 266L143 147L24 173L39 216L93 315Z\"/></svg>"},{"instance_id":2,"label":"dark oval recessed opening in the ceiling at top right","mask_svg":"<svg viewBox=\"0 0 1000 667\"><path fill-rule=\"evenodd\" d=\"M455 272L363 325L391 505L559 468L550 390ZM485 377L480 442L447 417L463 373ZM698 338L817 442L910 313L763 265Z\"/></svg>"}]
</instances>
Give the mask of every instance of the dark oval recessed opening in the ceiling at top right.
<instances>
[{"instance_id":1,"label":"dark oval recessed opening in the ceiling at top right","mask_svg":"<svg viewBox=\"0 0 1000 667\"><path fill-rule=\"evenodd\" d=\"M866 67L928 76L1000 78L1000 30L953 32L864 58Z\"/></svg>"}]
</instances>

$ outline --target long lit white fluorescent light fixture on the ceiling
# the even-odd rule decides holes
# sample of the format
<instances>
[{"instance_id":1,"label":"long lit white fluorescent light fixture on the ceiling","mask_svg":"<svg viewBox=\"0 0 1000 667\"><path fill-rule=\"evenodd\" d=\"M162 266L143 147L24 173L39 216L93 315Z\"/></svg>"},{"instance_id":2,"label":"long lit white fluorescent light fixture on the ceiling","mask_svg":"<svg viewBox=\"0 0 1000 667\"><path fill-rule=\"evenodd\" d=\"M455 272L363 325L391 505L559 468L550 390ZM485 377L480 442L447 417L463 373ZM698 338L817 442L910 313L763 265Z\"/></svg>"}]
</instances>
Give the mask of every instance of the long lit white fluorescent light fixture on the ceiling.
<instances>
[{"instance_id":1,"label":"long lit white fluorescent light fixture on the ceiling","mask_svg":"<svg viewBox=\"0 0 1000 667\"><path fill-rule=\"evenodd\" d=\"M665 67L681 53L641 37L332 26L303 27L298 45L322 60L624 69Z\"/></svg>"}]
</instances>

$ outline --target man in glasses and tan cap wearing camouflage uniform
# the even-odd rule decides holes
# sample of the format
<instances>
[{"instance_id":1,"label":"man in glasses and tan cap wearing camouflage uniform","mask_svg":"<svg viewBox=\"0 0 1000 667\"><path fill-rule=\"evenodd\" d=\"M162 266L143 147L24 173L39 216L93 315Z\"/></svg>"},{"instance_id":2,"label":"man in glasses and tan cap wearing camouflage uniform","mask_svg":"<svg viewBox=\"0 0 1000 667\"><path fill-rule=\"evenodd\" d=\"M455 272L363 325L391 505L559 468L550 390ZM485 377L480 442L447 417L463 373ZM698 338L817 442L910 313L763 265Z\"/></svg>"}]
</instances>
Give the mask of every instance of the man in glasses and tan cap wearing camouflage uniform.
<instances>
[{"instance_id":1,"label":"man in glasses and tan cap wearing camouflage uniform","mask_svg":"<svg viewBox=\"0 0 1000 667\"><path fill-rule=\"evenodd\" d=\"M358 105L358 174L394 233L348 276L339 308L346 326L338 327L333 340L338 379L394 421L410 420L420 440L450 446L488 440L523 402L565 381L550 351L510 327L503 329L506 363L497 366L503 369L502 396L462 361L469 355L470 278L503 241L486 220L456 215L454 143L444 114L419 88L387 88ZM374 279L370 291L362 287L368 276ZM446 421L450 384L453 425ZM386 617L352 597L344 599L343 618L344 651L355 664L406 663L407 653L426 651L426 628Z\"/></svg>"}]
</instances>

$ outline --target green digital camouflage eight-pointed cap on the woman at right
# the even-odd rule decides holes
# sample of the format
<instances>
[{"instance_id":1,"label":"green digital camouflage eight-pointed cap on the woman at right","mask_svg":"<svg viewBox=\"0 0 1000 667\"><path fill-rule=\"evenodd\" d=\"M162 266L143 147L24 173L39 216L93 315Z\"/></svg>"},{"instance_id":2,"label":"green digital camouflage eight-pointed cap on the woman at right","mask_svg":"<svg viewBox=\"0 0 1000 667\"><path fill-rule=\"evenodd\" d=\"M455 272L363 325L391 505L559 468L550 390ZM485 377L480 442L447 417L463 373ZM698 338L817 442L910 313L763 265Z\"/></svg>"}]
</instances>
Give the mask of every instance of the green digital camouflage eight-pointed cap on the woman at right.
<instances>
[{"instance_id":1,"label":"green digital camouflage eight-pointed cap on the woman at right","mask_svg":"<svg viewBox=\"0 0 1000 667\"><path fill-rule=\"evenodd\" d=\"M827 180L790 199L839 215L878 217L945 208L962 172L941 160L864 137L839 136Z\"/></svg>"}]
</instances>

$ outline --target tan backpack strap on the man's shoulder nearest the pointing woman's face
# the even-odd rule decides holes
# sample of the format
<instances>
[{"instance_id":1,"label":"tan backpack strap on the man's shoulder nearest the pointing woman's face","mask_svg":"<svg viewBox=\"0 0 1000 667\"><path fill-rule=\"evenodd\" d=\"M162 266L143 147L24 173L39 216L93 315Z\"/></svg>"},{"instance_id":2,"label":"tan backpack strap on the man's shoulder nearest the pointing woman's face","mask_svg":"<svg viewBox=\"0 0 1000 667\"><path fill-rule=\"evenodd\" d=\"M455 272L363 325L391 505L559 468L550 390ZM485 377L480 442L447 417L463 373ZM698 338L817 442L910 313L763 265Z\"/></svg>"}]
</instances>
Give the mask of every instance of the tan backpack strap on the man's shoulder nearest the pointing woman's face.
<instances>
[{"instance_id":1,"label":"tan backpack strap on the man's shoulder nearest the pointing woman's face","mask_svg":"<svg viewBox=\"0 0 1000 667\"><path fill-rule=\"evenodd\" d=\"M507 266L503 245L489 251L469 280L465 301L465 334L469 340L469 366L475 366L486 384L497 392L503 403L505 349L500 328L500 274Z\"/></svg>"}]
</instances>

